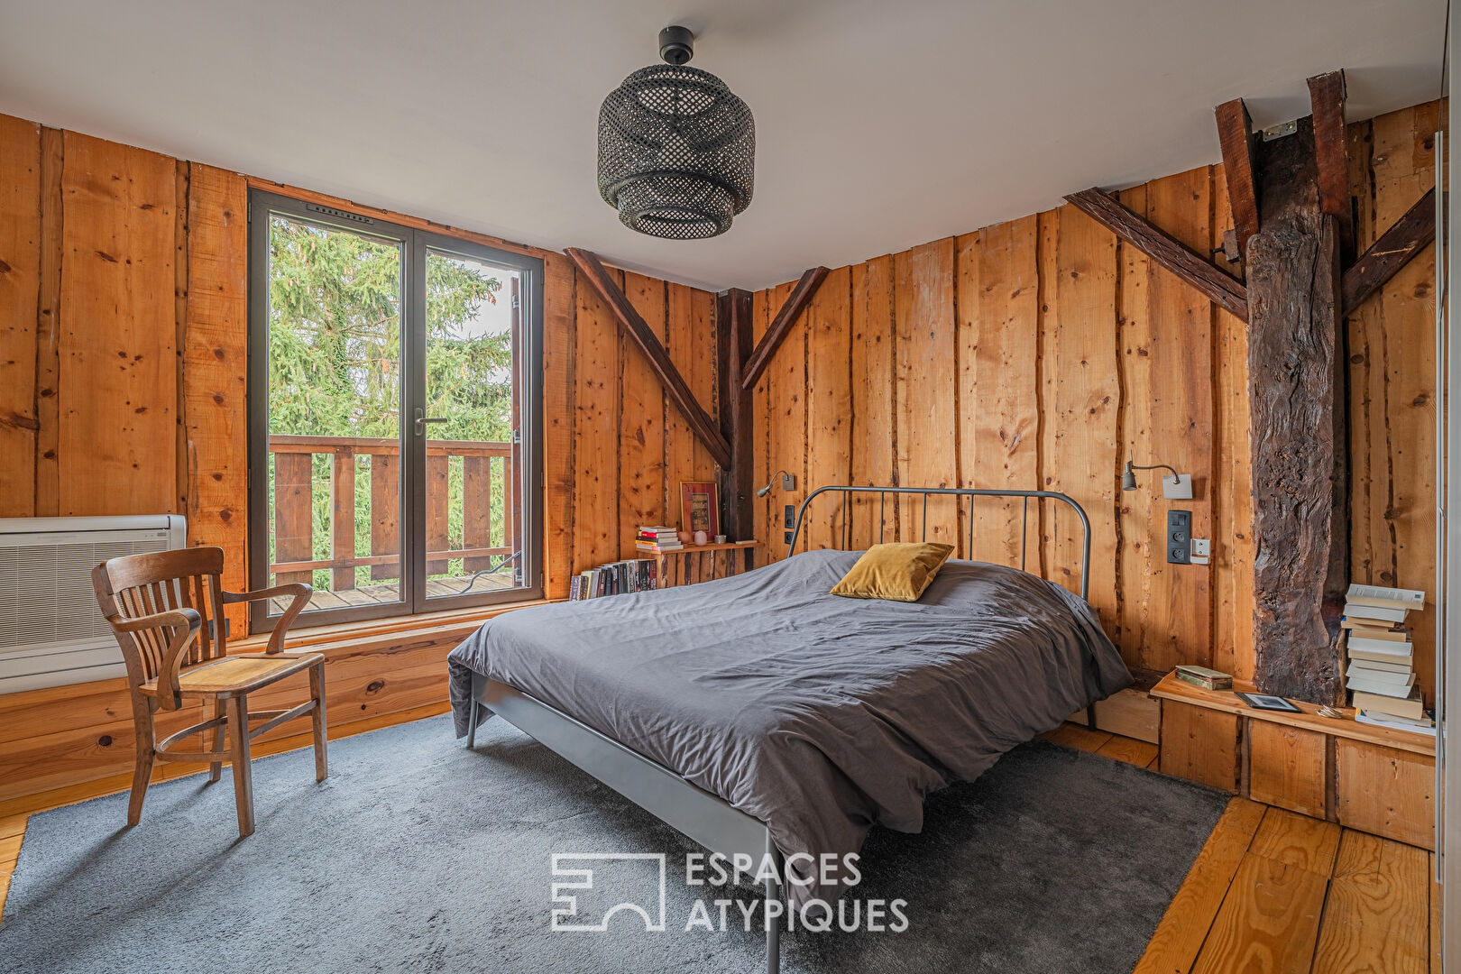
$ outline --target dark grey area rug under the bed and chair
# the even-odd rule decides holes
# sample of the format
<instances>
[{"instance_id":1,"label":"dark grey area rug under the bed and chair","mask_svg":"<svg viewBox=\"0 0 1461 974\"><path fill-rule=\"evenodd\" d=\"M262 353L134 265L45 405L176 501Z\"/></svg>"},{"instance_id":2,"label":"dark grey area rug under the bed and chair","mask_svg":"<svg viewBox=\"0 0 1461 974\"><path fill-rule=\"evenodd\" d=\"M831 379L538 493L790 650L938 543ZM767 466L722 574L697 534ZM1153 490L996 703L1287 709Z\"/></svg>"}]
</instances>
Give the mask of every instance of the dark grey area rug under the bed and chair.
<instances>
[{"instance_id":1,"label":"dark grey area rug under the bed and chair","mask_svg":"<svg viewBox=\"0 0 1461 974\"><path fill-rule=\"evenodd\" d=\"M308 751L256 762L245 841L226 775L153 786L131 831L126 794L34 816L0 971L764 970L760 927L745 932L735 905L726 932L685 930L697 900L719 926L713 901L749 907L754 891L687 886L695 845L500 720L475 752L449 717L346 737L330 771L316 784ZM783 970L1129 971L1224 803L1024 745L932 796L920 835L874 829L852 895L906 900L904 932L786 933ZM552 930L552 854L624 851L668 854L665 930L630 910L605 932ZM560 860L584 864L595 888L561 923L592 924L618 901L655 913L655 860Z\"/></svg>"}]
</instances>

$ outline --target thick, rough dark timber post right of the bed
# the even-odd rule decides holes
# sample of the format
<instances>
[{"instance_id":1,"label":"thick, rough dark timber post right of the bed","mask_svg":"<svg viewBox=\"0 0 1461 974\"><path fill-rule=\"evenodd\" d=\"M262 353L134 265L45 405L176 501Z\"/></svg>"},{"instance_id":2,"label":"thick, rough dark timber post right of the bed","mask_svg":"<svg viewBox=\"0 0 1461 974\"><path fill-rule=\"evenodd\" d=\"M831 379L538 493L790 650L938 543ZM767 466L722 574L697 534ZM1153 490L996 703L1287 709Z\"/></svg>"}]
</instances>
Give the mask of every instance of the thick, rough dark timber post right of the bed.
<instances>
[{"instance_id":1,"label":"thick, rough dark timber post right of the bed","mask_svg":"<svg viewBox=\"0 0 1461 974\"><path fill-rule=\"evenodd\" d=\"M1319 209L1313 129L1259 146L1248 242L1258 689L1332 704L1349 568L1340 247Z\"/></svg>"}]
</instances>

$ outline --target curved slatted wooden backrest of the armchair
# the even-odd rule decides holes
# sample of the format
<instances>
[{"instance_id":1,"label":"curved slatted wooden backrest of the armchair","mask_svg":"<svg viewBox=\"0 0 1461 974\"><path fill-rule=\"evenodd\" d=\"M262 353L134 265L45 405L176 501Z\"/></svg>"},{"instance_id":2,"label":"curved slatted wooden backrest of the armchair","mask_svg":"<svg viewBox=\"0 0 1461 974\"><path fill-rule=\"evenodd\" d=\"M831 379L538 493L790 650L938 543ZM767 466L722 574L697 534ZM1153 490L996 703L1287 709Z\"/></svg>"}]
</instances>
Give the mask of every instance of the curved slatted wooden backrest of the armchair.
<instances>
[{"instance_id":1,"label":"curved slatted wooden backrest of the armchair","mask_svg":"<svg viewBox=\"0 0 1461 974\"><path fill-rule=\"evenodd\" d=\"M199 638L187 651L186 666L226 653L222 625L224 551L187 548L112 558L96 565L92 584L102 613L123 619L193 609L202 619ZM114 631L133 686L156 679L175 628L156 625L131 632Z\"/></svg>"}]
</instances>

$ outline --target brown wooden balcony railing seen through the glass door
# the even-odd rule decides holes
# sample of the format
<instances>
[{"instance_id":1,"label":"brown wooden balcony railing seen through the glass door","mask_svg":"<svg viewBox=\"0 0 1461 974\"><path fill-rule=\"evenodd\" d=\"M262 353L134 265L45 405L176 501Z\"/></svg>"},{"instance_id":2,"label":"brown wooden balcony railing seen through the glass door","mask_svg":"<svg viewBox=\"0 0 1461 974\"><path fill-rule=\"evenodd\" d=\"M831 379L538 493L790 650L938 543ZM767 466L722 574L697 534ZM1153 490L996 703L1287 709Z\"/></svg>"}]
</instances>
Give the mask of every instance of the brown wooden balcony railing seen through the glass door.
<instances>
[{"instance_id":1,"label":"brown wooden balcony railing seen through the glass door","mask_svg":"<svg viewBox=\"0 0 1461 974\"><path fill-rule=\"evenodd\" d=\"M468 572L492 567L513 555L517 530L513 513L516 480L513 444L466 440L427 441L427 572L447 571L462 558ZM400 577L400 441L371 437L269 437L275 463L276 581L304 581L330 570L333 591L355 587L355 570L365 565L373 580ZM314 556L314 454L330 461L330 558ZM370 553L356 553L355 457L370 457ZM462 457L462 540L451 548L449 532L451 457ZM501 457L501 463L492 460ZM492 485L501 478L501 508L494 511ZM494 518L495 513L495 518ZM494 523L498 527L494 537Z\"/></svg>"}]
</instances>

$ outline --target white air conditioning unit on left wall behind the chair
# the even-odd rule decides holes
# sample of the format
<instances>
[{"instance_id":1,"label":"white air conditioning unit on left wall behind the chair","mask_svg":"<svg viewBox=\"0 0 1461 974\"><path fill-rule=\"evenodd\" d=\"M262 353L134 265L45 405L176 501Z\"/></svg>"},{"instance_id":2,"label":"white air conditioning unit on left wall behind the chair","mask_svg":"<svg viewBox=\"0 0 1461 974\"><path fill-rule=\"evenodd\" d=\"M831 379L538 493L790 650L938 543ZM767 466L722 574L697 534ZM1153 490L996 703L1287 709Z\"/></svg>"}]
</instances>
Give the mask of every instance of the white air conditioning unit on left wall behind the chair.
<instances>
[{"instance_id":1,"label":"white air conditioning unit on left wall behind the chair","mask_svg":"<svg viewBox=\"0 0 1461 974\"><path fill-rule=\"evenodd\" d=\"M0 694L126 676L91 570L187 545L186 518L0 518Z\"/></svg>"}]
</instances>

